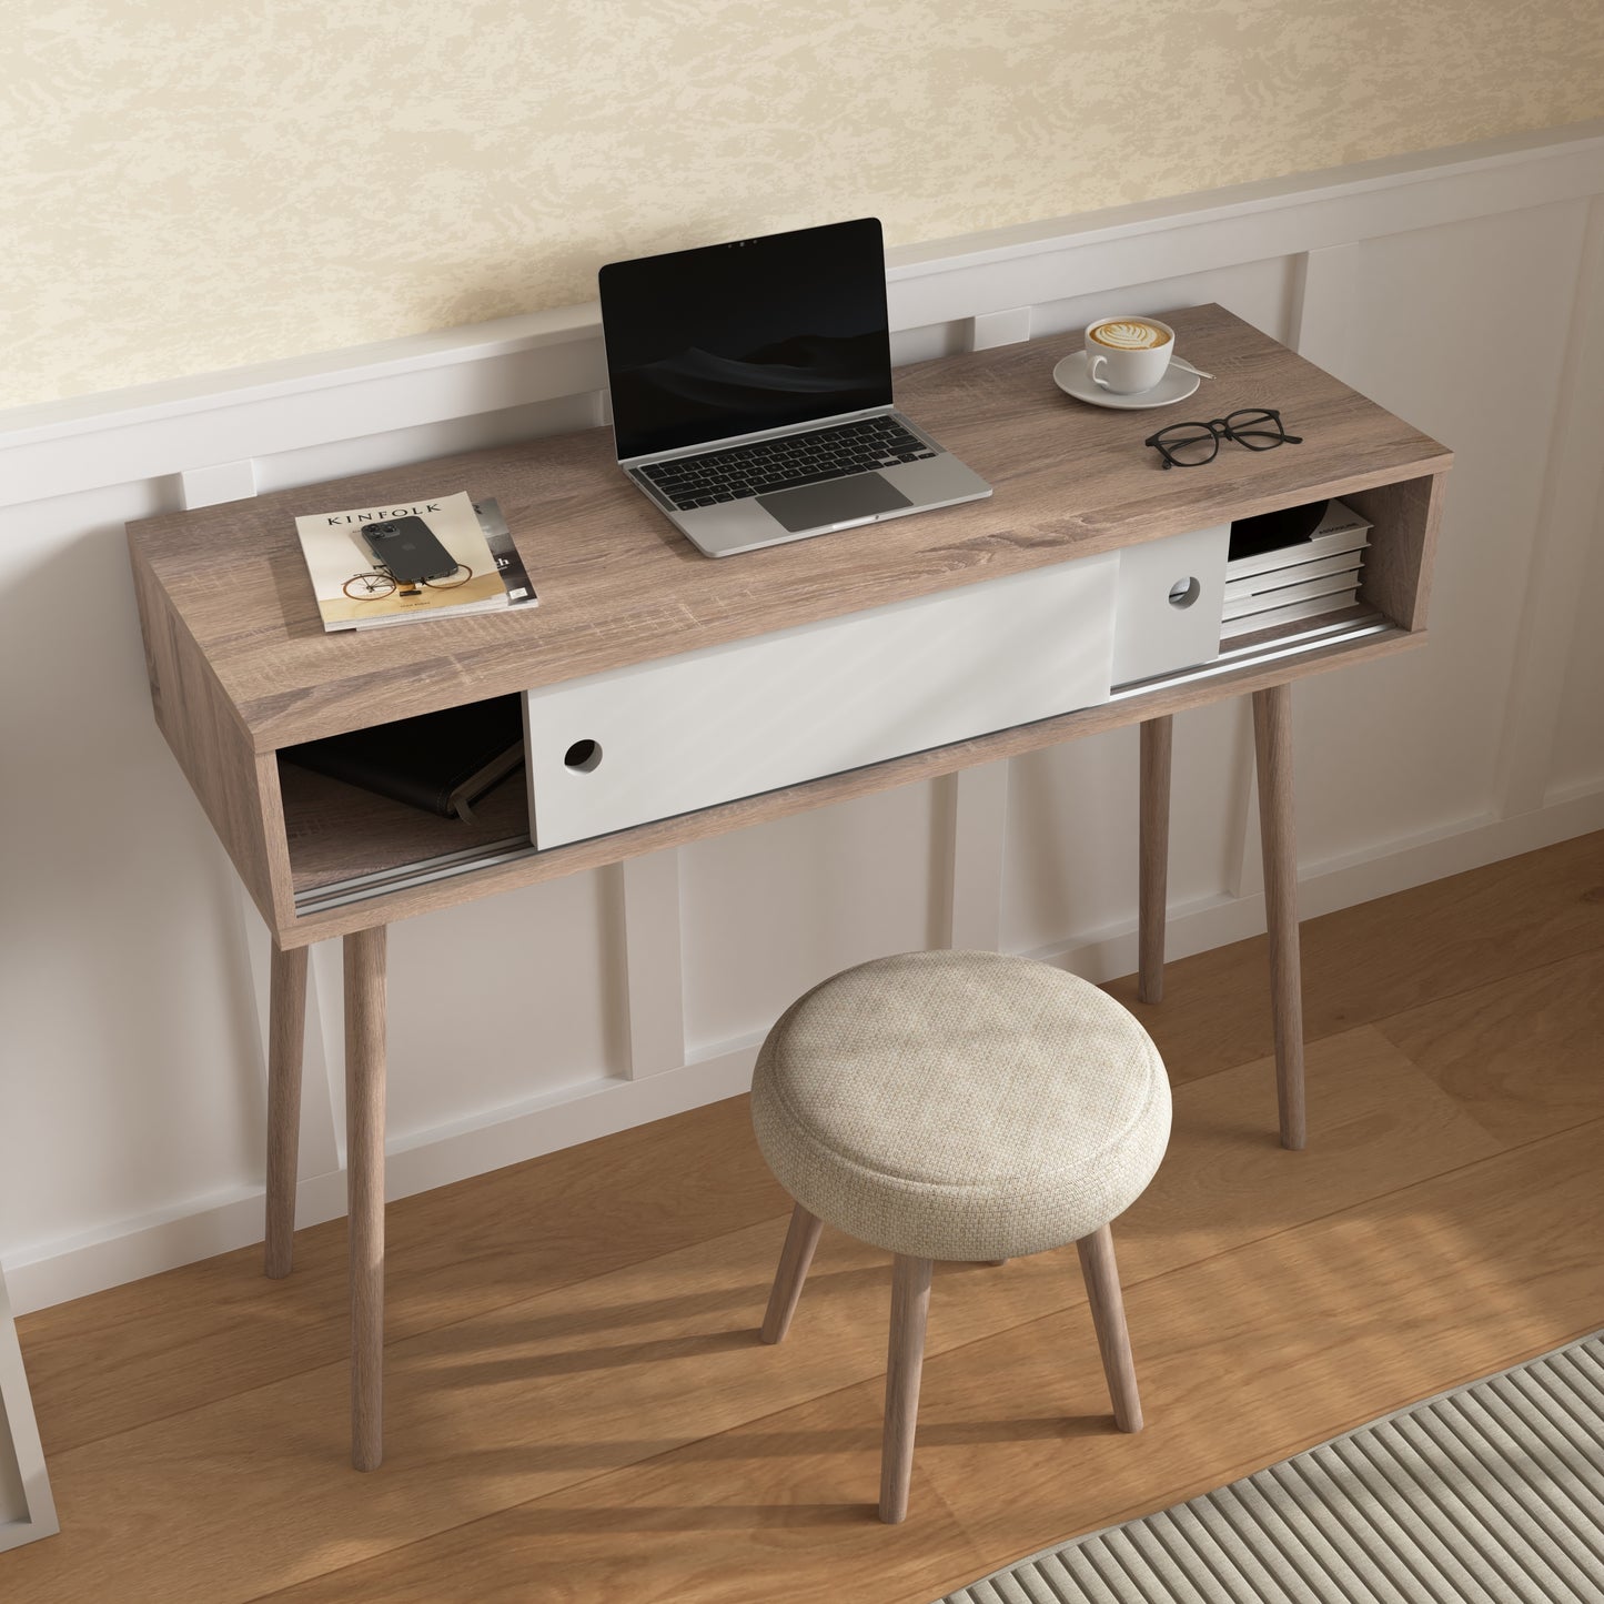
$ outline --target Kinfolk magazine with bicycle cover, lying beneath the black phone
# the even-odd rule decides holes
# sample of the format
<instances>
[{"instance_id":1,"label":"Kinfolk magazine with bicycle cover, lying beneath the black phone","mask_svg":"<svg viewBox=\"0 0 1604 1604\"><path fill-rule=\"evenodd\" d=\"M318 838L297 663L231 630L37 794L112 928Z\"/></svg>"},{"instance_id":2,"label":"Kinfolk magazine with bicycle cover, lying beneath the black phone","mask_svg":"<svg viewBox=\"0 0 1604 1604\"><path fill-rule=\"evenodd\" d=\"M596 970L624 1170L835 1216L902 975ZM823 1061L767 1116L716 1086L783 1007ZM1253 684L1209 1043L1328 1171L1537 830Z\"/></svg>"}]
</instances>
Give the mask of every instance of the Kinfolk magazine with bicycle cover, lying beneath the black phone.
<instances>
[{"instance_id":1,"label":"Kinfolk magazine with bicycle cover, lying beneath the black phone","mask_svg":"<svg viewBox=\"0 0 1604 1604\"><path fill-rule=\"evenodd\" d=\"M374 558L363 541L363 525L411 516L423 518L457 560L454 573L403 584ZM326 630L492 613L508 605L500 568L465 491L409 504L306 513L295 520L295 533Z\"/></svg>"}]
</instances>

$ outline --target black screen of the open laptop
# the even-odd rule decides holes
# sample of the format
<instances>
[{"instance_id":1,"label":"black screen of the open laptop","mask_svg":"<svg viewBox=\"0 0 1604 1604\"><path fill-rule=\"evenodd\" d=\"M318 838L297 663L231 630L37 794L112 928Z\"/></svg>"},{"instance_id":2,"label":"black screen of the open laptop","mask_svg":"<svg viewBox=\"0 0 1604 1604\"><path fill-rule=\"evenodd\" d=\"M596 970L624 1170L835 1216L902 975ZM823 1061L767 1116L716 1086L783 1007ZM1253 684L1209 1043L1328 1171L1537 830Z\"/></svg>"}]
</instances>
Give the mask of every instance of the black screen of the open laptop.
<instances>
[{"instance_id":1,"label":"black screen of the open laptop","mask_svg":"<svg viewBox=\"0 0 1604 1604\"><path fill-rule=\"evenodd\" d=\"M598 274L621 459L890 406L877 218Z\"/></svg>"}]
</instances>

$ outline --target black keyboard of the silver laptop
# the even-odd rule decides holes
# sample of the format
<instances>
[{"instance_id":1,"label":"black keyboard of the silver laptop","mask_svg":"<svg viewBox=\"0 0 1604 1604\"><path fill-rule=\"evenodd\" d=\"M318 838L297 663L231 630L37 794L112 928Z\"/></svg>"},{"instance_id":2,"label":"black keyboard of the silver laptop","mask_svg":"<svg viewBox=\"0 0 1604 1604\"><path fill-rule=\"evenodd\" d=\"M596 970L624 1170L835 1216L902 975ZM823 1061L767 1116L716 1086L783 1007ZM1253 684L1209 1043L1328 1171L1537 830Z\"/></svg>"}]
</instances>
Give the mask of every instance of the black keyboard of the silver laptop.
<instances>
[{"instance_id":1,"label":"black keyboard of the silver laptop","mask_svg":"<svg viewBox=\"0 0 1604 1604\"><path fill-rule=\"evenodd\" d=\"M653 489L677 510L711 507L714 502L767 496L799 484L840 480L871 468L893 468L935 452L890 417L861 417L832 428L816 428L752 446L706 451L640 468Z\"/></svg>"}]
</instances>

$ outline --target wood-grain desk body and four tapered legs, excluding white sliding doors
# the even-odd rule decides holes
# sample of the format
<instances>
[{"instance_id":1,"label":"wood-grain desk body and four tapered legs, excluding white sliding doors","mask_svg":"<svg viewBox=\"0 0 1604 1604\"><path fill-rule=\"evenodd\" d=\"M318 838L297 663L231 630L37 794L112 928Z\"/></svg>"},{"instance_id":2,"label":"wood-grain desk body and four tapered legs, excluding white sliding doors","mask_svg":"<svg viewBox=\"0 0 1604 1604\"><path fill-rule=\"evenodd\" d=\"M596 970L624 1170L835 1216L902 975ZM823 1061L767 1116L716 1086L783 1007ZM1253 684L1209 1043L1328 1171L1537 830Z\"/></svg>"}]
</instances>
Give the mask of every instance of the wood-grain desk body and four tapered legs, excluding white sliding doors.
<instances>
[{"instance_id":1,"label":"wood-grain desk body and four tapered legs, excluding white sliding doors","mask_svg":"<svg viewBox=\"0 0 1604 1604\"><path fill-rule=\"evenodd\" d=\"M994 494L723 561L696 553L626 483L605 428L128 526L157 723L273 932L266 1274L274 1277L290 1269L306 946L345 938L359 1469L382 1458L385 930L395 919L1139 722L1142 994L1156 999L1171 717L1251 695L1280 1129L1286 1147L1302 1147L1290 682L1424 640L1452 456L1219 306L1171 321L1179 348L1216 379L1160 412L1092 409L1060 393L1052 367L1079 350L1075 334L901 369L898 406ZM1253 452L1227 441L1206 467L1171 472L1142 444L1163 423L1219 419L1245 406L1278 407L1304 444ZM326 635L294 515L459 489L499 499L539 606ZM528 797L515 781L492 792L483 818L468 826L279 765L281 747L318 736L1331 496L1373 525L1360 600L1381 618L1349 619L1314 638L1309 624L1286 626L1203 672L1120 690L1079 712L598 839L536 852Z\"/></svg>"}]
</instances>

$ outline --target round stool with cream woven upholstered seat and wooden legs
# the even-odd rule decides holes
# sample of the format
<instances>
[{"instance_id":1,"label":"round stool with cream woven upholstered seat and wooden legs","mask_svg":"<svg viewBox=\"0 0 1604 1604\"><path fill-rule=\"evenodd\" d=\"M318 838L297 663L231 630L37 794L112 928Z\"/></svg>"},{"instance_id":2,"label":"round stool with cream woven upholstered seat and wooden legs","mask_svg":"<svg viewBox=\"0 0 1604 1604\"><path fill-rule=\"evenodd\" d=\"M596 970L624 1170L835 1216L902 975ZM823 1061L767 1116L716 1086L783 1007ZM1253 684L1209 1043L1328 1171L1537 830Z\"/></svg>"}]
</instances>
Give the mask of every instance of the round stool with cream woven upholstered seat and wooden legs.
<instances>
[{"instance_id":1,"label":"round stool with cream woven upholstered seat and wooden legs","mask_svg":"<svg viewBox=\"0 0 1604 1604\"><path fill-rule=\"evenodd\" d=\"M1073 1241L1121 1431L1142 1429L1108 1222L1169 1139L1147 1031L1094 985L1001 953L905 953L815 986L752 1075L752 1126L796 1200L764 1341L791 1325L824 1222L897 1256L881 1519L908 1511L934 1259Z\"/></svg>"}]
</instances>

